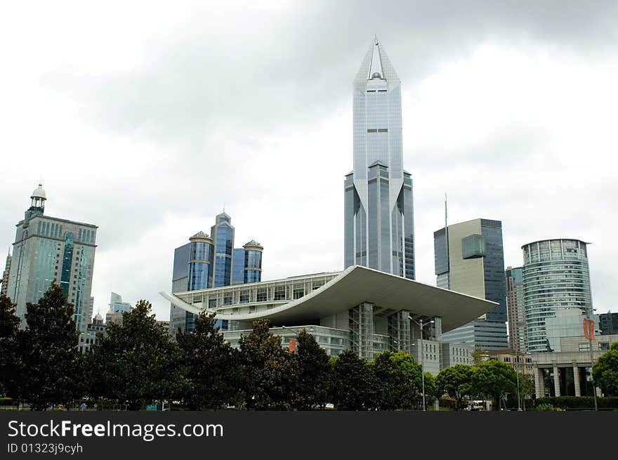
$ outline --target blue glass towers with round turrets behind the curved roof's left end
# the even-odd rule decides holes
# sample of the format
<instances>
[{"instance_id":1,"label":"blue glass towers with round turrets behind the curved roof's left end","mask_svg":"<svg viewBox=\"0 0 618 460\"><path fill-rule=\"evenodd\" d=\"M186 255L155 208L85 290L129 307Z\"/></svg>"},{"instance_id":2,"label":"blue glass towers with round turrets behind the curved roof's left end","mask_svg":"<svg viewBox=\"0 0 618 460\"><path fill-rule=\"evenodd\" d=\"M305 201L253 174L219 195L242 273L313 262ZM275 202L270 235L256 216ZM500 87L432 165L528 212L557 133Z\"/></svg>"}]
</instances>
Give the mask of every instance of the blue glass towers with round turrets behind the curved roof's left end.
<instances>
[{"instance_id":1,"label":"blue glass towers with round turrets behind the curved roof's left end","mask_svg":"<svg viewBox=\"0 0 618 460\"><path fill-rule=\"evenodd\" d=\"M211 235L197 232L189 244L174 251L172 293L199 291L213 287L261 281L263 247L253 239L242 248L234 249L235 229L225 212L216 216ZM227 320L218 320L216 327L228 329ZM171 304L169 331L176 338L178 329L193 331L195 315Z\"/></svg>"}]
</instances>

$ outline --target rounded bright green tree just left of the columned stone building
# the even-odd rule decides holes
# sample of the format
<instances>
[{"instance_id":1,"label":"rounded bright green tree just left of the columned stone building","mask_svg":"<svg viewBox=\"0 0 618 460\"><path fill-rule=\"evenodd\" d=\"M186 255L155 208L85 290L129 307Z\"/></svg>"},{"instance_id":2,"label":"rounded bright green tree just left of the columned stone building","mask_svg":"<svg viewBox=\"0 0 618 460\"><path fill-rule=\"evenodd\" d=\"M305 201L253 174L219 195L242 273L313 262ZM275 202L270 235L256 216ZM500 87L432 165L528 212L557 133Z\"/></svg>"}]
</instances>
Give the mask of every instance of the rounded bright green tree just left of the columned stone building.
<instances>
[{"instance_id":1,"label":"rounded bright green tree just left of the columned stone building","mask_svg":"<svg viewBox=\"0 0 618 460\"><path fill-rule=\"evenodd\" d=\"M494 410L499 410L506 393L517 390L515 369L498 360L483 362L472 376L473 390L494 400Z\"/></svg>"}]
</instances>

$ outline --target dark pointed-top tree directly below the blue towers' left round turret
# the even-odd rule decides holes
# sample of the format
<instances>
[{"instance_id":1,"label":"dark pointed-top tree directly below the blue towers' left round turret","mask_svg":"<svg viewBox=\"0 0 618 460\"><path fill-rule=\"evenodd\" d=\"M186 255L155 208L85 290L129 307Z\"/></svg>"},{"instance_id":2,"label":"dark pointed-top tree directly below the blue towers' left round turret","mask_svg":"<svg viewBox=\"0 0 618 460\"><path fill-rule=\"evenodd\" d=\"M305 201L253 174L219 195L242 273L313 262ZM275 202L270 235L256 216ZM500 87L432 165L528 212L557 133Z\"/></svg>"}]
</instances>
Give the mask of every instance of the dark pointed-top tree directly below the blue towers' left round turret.
<instances>
[{"instance_id":1,"label":"dark pointed-top tree directly below the blue towers' left round turret","mask_svg":"<svg viewBox=\"0 0 618 460\"><path fill-rule=\"evenodd\" d=\"M176 335L184 376L183 400L192 410L239 403L237 351L223 341L215 316L202 312L195 317L195 331Z\"/></svg>"}]
</instances>

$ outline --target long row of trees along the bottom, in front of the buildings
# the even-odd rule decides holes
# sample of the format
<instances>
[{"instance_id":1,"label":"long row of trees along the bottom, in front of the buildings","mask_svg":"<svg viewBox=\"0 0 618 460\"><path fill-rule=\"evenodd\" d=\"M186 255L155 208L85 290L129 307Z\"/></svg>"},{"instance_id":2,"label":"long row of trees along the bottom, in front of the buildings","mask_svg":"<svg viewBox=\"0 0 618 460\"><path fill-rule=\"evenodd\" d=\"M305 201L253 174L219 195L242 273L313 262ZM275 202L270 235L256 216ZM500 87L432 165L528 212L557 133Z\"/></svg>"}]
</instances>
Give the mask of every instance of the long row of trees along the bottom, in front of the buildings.
<instances>
[{"instance_id":1,"label":"long row of trees along the bottom, in front of the buildings","mask_svg":"<svg viewBox=\"0 0 618 460\"><path fill-rule=\"evenodd\" d=\"M223 341L214 316L204 314L194 332L180 332L173 342L150 303L139 301L81 354L73 307L57 284L39 303L27 304L25 320L20 329L15 305L0 296L0 392L35 410L84 398L133 410L153 401L192 410L310 410L329 403L340 410L395 410L421 402L421 367L412 355L385 351L369 362L346 350L329 358L305 330L292 353L267 320L254 322L239 348ZM435 377L425 373L424 380L428 403L448 395L458 409L468 398L492 399L498 409L517 388L522 396L534 391L530 377L520 374L518 381L512 367L496 360L456 364Z\"/></svg>"}]
</instances>

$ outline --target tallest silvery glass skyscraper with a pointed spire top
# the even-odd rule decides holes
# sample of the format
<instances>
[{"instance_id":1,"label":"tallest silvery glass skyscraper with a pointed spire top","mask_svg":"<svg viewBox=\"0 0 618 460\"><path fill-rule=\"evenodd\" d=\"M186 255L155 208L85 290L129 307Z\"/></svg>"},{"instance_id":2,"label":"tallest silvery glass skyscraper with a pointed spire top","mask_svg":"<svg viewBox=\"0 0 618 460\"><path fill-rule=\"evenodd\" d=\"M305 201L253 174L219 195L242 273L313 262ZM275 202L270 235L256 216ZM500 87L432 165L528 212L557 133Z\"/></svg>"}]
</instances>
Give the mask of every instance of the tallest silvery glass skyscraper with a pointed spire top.
<instances>
[{"instance_id":1,"label":"tallest silvery glass skyscraper with a pointed spire top","mask_svg":"<svg viewBox=\"0 0 618 460\"><path fill-rule=\"evenodd\" d=\"M344 263L414 280L412 176L403 169L401 81L377 37L353 84L354 169L344 182Z\"/></svg>"}]
</instances>

